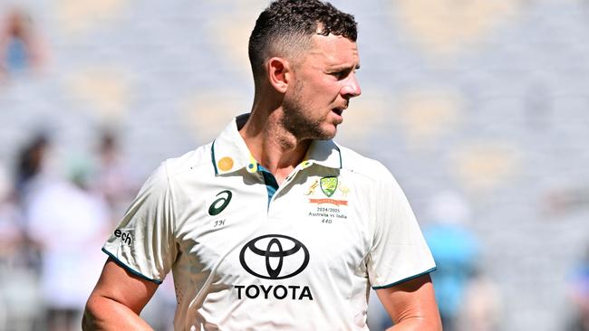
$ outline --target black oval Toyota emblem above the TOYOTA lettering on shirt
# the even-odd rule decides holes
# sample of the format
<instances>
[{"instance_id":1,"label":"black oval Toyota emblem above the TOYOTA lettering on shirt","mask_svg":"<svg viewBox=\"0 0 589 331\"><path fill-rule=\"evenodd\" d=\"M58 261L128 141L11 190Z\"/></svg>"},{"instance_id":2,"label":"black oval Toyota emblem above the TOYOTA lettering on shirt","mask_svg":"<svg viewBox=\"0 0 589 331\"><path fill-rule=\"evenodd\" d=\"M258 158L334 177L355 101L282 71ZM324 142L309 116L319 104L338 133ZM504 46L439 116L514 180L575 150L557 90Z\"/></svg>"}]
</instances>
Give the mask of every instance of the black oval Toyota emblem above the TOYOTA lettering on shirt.
<instances>
[{"instance_id":1,"label":"black oval Toyota emblem above the TOYOTA lettering on shirt","mask_svg":"<svg viewBox=\"0 0 589 331\"><path fill-rule=\"evenodd\" d=\"M266 234L248 241L239 253L239 262L261 279L287 279L309 264L309 251L301 241L282 234Z\"/></svg>"}]
</instances>

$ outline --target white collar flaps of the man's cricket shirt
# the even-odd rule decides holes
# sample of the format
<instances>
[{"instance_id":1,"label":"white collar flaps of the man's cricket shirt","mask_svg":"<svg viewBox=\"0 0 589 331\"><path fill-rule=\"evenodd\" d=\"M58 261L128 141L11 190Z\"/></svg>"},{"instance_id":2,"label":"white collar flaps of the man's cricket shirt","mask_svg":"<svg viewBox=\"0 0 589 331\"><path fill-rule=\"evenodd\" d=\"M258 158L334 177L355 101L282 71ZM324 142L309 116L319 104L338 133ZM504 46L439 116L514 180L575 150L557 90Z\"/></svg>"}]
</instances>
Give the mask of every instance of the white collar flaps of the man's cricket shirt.
<instances>
[{"instance_id":1,"label":"white collar flaps of the man's cricket shirt","mask_svg":"<svg viewBox=\"0 0 589 331\"><path fill-rule=\"evenodd\" d=\"M250 173L258 171L256 159L250 154L246 142L239 134L239 129L246 124L247 118L249 114L234 118L213 141L211 154L216 175L234 173L243 168ZM341 169L340 148L333 140L314 140L300 166L304 169L311 165Z\"/></svg>"}]
</instances>

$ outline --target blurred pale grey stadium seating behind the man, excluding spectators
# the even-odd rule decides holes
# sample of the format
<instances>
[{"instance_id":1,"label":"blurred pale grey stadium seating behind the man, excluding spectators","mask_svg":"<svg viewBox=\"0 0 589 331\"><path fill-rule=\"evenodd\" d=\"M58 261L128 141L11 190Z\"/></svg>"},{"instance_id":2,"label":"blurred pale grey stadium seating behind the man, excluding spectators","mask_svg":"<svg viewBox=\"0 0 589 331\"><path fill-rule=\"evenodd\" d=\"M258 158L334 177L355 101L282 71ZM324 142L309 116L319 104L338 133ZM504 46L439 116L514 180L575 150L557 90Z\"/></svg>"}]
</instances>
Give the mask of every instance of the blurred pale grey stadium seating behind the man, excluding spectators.
<instances>
[{"instance_id":1,"label":"blurred pale grey stadium seating behind the man, excluding spectators","mask_svg":"<svg viewBox=\"0 0 589 331\"><path fill-rule=\"evenodd\" d=\"M111 128L140 183L208 143L251 106L246 38L266 4L3 1L0 20L22 8L46 56L0 73L0 165L42 129L65 174ZM563 329L566 275L589 243L587 2L333 4L360 24L363 91L336 140L387 165L424 228L437 193L466 197L500 330Z\"/></svg>"}]
</instances>

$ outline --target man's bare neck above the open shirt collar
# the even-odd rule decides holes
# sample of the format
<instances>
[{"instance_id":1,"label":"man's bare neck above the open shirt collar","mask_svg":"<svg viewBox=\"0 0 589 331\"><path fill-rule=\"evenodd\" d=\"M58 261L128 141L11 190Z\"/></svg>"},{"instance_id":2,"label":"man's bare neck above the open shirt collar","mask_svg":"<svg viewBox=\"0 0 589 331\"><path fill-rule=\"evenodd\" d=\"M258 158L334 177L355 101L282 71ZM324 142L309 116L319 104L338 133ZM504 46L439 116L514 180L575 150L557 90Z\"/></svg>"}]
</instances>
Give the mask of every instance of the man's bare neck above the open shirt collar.
<instances>
[{"instance_id":1,"label":"man's bare neck above the open shirt collar","mask_svg":"<svg viewBox=\"0 0 589 331\"><path fill-rule=\"evenodd\" d=\"M246 125L239 130L249 152L256 161L275 175L278 184L284 182L296 165L301 163L311 140L299 140L281 125L284 110L268 107L255 99Z\"/></svg>"}]
</instances>

